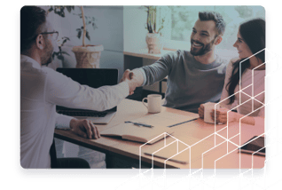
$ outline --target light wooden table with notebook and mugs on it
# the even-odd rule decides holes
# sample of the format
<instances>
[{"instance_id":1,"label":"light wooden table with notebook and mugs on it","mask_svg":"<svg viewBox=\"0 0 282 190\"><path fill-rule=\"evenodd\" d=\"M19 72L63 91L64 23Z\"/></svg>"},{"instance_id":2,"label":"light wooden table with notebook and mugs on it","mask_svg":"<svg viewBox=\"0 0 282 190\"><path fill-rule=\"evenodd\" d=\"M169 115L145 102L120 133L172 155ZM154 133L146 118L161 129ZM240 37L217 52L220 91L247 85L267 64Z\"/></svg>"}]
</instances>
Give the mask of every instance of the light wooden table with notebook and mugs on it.
<instances>
[{"instance_id":1,"label":"light wooden table with notebook and mugs on it","mask_svg":"<svg viewBox=\"0 0 282 190\"><path fill-rule=\"evenodd\" d=\"M162 107L161 112L169 112L177 115L194 115L189 112L184 112L181 110ZM134 120L144 115L150 115L147 113L146 107L142 105L142 102L138 102L135 100L124 99L121 101L121 104L117 107L117 113L114 116L114 119L111 123L107 125L97 125L99 131L104 131L111 127L114 127L117 124L124 123L126 120ZM176 122L177 123L177 122ZM217 125L216 131L218 135L213 135L215 132L215 125L210 123L204 123L202 119L198 119L196 121L190 123L184 123L181 125L177 125L174 128L173 136L180 140L178 141L178 152L184 150L188 146L191 146L191 160L190 160L190 152L189 148L184 151L182 154L177 156L186 157L186 164L177 163L177 162L166 162L166 166L164 165L164 160L160 158L153 159L153 166L156 168L171 168L171 169L199 169L202 167L204 169L239 169L239 153L237 147L234 146L231 142L223 142L224 139L228 137L229 139L235 135L231 141L237 145L239 145L239 123L231 123L228 126L228 130L223 128L225 125ZM221 131L222 130L222 131ZM241 145L245 143L248 139L251 139L255 135L261 135L263 133L263 126L252 126L247 124L241 125ZM220 135L220 136L219 136ZM208 138L207 138L208 137ZM94 150L101 151L106 153L106 157L111 158L109 155L121 156L127 159L132 160L132 162L139 162L139 146L142 146L142 143L137 143L128 140L122 139L114 139L108 137L101 137L100 139L83 139L75 135L72 131L63 131L63 130L55 130L55 138L67 140L74 144L89 147ZM206 139L205 139L206 138ZM168 137L166 139L167 145L176 139ZM204 140L202 140L204 139ZM197 143L198 142L198 143ZM222 143L220 146L219 145ZM184 144L186 145L184 145ZM196 144L195 144L196 143ZM194 145L195 144L195 145ZM157 151L161 147L164 146L164 139L156 142L153 145L145 145L142 146L142 166L150 167L152 164L152 157L149 155L145 155L145 152L153 153ZM214 147L214 148L213 148ZM228 152L227 152L228 147ZM176 154L177 141L166 147L167 151L173 154ZM208 151L209 150L209 151ZM232 150L235 150L231 152ZM205 153L206 152L206 153ZM231 153L230 153L231 152ZM205 153L205 154L203 154ZM224 154L230 153L223 158L221 158ZM202 156L203 154L203 156ZM189 159L188 159L189 158ZM202 161L203 158L203 161ZM219 159L221 158L221 159ZM215 160L219 159L216 162ZM254 168L261 169L264 167L265 157L254 155ZM111 168L110 161L107 162L107 168ZM241 169L249 169L252 166L252 155L250 154L241 154Z\"/></svg>"}]
</instances>

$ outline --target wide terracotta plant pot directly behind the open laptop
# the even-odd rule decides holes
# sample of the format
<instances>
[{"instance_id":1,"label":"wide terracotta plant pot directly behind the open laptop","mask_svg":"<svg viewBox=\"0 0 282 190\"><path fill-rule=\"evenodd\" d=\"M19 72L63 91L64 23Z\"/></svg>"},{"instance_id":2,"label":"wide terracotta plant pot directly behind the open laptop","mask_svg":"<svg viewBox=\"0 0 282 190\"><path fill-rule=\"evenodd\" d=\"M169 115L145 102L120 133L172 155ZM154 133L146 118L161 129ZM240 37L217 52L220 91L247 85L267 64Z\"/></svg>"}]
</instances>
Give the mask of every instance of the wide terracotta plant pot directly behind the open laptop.
<instances>
[{"instance_id":1,"label":"wide terracotta plant pot directly behind the open laptop","mask_svg":"<svg viewBox=\"0 0 282 190\"><path fill-rule=\"evenodd\" d=\"M73 50L77 68L98 68L100 67L101 51L103 45L74 46Z\"/></svg>"}]
</instances>

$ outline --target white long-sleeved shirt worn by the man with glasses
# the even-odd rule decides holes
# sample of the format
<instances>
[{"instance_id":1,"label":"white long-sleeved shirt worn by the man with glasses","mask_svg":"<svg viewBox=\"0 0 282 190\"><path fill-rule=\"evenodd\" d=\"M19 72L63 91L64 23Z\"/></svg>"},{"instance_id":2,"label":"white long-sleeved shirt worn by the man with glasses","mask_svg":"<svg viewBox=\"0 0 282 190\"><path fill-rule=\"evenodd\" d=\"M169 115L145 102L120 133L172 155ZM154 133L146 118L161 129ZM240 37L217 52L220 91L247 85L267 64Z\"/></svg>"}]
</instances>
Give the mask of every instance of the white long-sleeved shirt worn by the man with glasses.
<instances>
[{"instance_id":1,"label":"white long-sleeved shirt worn by the man with glasses","mask_svg":"<svg viewBox=\"0 0 282 190\"><path fill-rule=\"evenodd\" d=\"M56 113L56 105L103 111L129 95L128 83L90 88L35 59L20 55L20 165L50 169L55 126L69 127L73 117Z\"/></svg>"}]
</instances>

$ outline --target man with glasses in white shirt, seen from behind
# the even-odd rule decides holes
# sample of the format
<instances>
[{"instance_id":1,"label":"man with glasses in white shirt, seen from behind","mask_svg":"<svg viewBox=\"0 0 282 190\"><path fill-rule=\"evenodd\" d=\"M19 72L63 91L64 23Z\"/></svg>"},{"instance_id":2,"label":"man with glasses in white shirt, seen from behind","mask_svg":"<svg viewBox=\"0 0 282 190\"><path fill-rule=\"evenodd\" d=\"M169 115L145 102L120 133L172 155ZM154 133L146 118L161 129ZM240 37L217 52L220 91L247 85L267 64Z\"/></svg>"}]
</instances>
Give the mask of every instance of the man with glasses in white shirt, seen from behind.
<instances>
[{"instance_id":1,"label":"man with glasses in white shirt, seen from behind","mask_svg":"<svg viewBox=\"0 0 282 190\"><path fill-rule=\"evenodd\" d=\"M56 113L56 105L103 111L116 107L134 91L136 82L93 89L74 82L48 66L59 33L46 12L36 6L20 10L20 165L24 169L89 169L82 159L56 158L55 126L88 139L100 137L89 120ZM83 107L82 107L83 105Z\"/></svg>"}]
</instances>

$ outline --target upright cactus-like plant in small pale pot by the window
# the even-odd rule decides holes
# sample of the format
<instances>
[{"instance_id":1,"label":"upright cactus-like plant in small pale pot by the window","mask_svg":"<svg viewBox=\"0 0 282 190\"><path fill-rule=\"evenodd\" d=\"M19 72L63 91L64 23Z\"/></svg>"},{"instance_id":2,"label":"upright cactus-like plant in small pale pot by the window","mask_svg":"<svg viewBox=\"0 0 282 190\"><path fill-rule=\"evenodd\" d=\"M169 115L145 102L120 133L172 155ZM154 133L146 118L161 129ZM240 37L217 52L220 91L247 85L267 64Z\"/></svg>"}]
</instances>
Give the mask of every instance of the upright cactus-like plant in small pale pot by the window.
<instances>
[{"instance_id":1,"label":"upright cactus-like plant in small pale pot by the window","mask_svg":"<svg viewBox=\"0 0 282 190\"><path fill-rule=\"evenodd\" d=\"M157 28L157 7L155 5L145 5L145 7L147 8L147 23L145 28L148 30L145 40L148 53L160 54L163 48L160 31L163 28L164 19L161 19L160 27Z\"/></svg>"}]
</instances>

